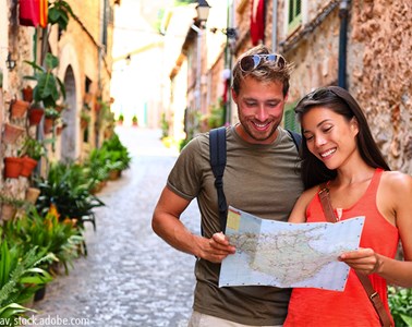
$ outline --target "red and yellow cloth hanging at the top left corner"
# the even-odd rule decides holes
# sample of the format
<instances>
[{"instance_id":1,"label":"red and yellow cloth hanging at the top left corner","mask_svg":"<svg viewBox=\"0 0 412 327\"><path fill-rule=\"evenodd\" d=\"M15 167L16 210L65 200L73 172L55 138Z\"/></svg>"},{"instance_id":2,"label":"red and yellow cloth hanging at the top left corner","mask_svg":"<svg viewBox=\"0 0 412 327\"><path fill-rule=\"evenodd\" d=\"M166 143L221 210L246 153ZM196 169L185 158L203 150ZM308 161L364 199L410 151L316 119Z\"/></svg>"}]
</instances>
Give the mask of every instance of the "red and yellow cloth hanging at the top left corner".
<instances>
[{"instance_id":1,"label":"red and yellow cloth hanging at the top left corner","mask_svg":"<svg viewBox=\"0 0 412 327\"><path fill-rule=\"evenodd\" d=\"M20 0L20 25L47 26L48 0Z\"/></svg>"}]
</instances>

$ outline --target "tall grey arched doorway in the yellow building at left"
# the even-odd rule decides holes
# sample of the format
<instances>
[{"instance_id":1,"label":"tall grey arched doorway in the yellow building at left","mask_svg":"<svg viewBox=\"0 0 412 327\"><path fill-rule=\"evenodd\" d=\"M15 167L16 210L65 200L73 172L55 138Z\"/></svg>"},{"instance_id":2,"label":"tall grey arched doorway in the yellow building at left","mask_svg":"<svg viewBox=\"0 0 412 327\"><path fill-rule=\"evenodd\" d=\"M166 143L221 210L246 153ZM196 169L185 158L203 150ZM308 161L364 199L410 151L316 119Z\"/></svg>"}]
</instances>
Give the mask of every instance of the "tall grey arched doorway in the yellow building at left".
<instances>
[{"instance_id":1,"label":"tall grey arched doorway in the yellow building at left","mask_svg":"<svg viewBox=\"0 0 412 327\"><path fill-rule=\"evenodd\" d=\"M62 112L63 122L66 128L61 134L61 160L63 162L76 159L76 128L77 128L77 101L74 73L71 65L68 66L64 75L65 102L68 108Z\"/></svg>"}]
</instances>

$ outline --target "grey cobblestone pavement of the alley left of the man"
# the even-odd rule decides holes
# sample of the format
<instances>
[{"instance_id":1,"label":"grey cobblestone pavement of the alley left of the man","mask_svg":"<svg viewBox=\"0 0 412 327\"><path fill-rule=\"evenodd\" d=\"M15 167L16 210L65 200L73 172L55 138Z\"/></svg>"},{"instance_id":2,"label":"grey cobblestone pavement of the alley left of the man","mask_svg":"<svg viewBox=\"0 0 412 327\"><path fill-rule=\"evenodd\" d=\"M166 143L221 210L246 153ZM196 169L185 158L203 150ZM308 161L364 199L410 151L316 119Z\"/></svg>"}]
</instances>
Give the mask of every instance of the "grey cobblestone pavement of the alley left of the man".
<instances>
[{"instance_id":1,"label":"grey cobblestone pavement of the alley left of the man","mask_svg":"<svg viewBox=\"0 0 412 327\"><path fill-rule=\"evenodd\" d=\"M150 226L154 206L177 153L160 142L160 131L118 128L133 155L131 169L97 194L97 230L87 226L88 256L69 276L47 286L33 326L186 326L193 301L195 258L169 246ZM193 202L182 221L198 233ZM40 320L43 319L43 320Z\"/></svg>"}]
</instances>

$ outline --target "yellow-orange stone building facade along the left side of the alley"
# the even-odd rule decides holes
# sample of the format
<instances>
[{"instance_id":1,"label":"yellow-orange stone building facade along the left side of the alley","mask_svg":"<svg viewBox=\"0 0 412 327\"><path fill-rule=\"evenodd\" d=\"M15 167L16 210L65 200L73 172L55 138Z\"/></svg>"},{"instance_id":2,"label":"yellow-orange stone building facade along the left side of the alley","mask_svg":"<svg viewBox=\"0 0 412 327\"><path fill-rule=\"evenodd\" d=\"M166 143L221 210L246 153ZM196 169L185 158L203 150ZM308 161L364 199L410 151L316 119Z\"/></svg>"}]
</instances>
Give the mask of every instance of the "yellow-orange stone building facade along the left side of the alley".
<instances>
[{"instance_id":1,"label":"yellow-orange stone building facade along the left side of the alley","mask_svg":"<svg viewBox=\"0 0 412 327\"><path fill-rule=\"evenodd\" d=\"M21 3L22 1L17 0L0 0L1 135L3 136L4 125L9 123L25 129L15 143L1 142L1 157L17 156L27 136L36 140L54 138L54 143L48 145L47 160L43 158L37 166L38 172L44 173L46 162L82 160L90 148L101 144L105 129L110 128L104 125L100 109L107 109L111 101L113 11L120 1L68 0L73 15L69 15L65 31L50 22L45 28L22 25ZM53 74L63 82L66 94L65 100L59 100L64 109L51 133L44 131L44 120L39 125L29 125L28 113L19 119L11 117L11 104L23 98L22 89L28 85L36 85L35 82L25 78L34 72L26 61L44 65L43 59L47 52L59 59ZM7 68L7 57L13 60L13 69ZM90 118L85 128L81 126L82 112ZM57 132L58 128L64 128L61 134L60 131ZM3 160L0 167L3 171ZM31 181L27 178L5 179L3 174L0 177L0 192L13 197L24 196L29 185Z\"/></svg>"}]
</instances>

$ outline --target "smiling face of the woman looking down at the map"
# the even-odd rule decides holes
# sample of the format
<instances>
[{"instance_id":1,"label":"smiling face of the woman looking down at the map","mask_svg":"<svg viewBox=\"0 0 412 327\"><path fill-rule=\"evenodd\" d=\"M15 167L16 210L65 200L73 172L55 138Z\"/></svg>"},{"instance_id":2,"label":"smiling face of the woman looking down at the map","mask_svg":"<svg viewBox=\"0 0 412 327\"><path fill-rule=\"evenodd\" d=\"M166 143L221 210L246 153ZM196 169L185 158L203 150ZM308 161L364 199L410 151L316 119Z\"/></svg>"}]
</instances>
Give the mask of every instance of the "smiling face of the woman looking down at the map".
<instances>
[{"instance_id":1,"label":"smiling face of the woman looking down at the map","mask_svg":"<svg viewBox=\"0 0 412 327\"><path fill-rule=\"evenodd\" d=\"M308 150L330 169L338 169L358 153L358 121L326 107L314 107L302 117Z\"/></svg>"}]
</instances>

